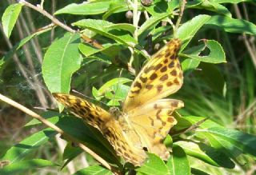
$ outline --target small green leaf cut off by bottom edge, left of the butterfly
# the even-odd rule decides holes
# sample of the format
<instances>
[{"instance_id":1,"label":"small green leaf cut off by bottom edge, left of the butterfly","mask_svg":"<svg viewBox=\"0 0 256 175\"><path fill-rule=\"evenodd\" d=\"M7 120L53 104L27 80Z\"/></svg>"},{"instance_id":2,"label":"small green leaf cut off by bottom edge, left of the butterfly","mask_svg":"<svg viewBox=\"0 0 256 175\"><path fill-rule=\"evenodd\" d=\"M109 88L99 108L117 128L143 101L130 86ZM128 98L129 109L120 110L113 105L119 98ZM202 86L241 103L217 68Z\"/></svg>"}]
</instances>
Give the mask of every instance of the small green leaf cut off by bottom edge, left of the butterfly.
<instances>
[{"instance_id":1,"label":"small green leaf cut off by bottom edge, left of the butterfly","mask_svg":"<svg viewBox=\"0 0 256 175\"><path fill-rule=\"evenodd\" d=\"M100 165L94 165L94 166L89 166L85 169L80 169L78 172L74 173L73 175L89 175L89 174L94 174L94 175L111 175L113 173L110 172L108 169L104 169Z\"/></svg>"}]
</instances>

